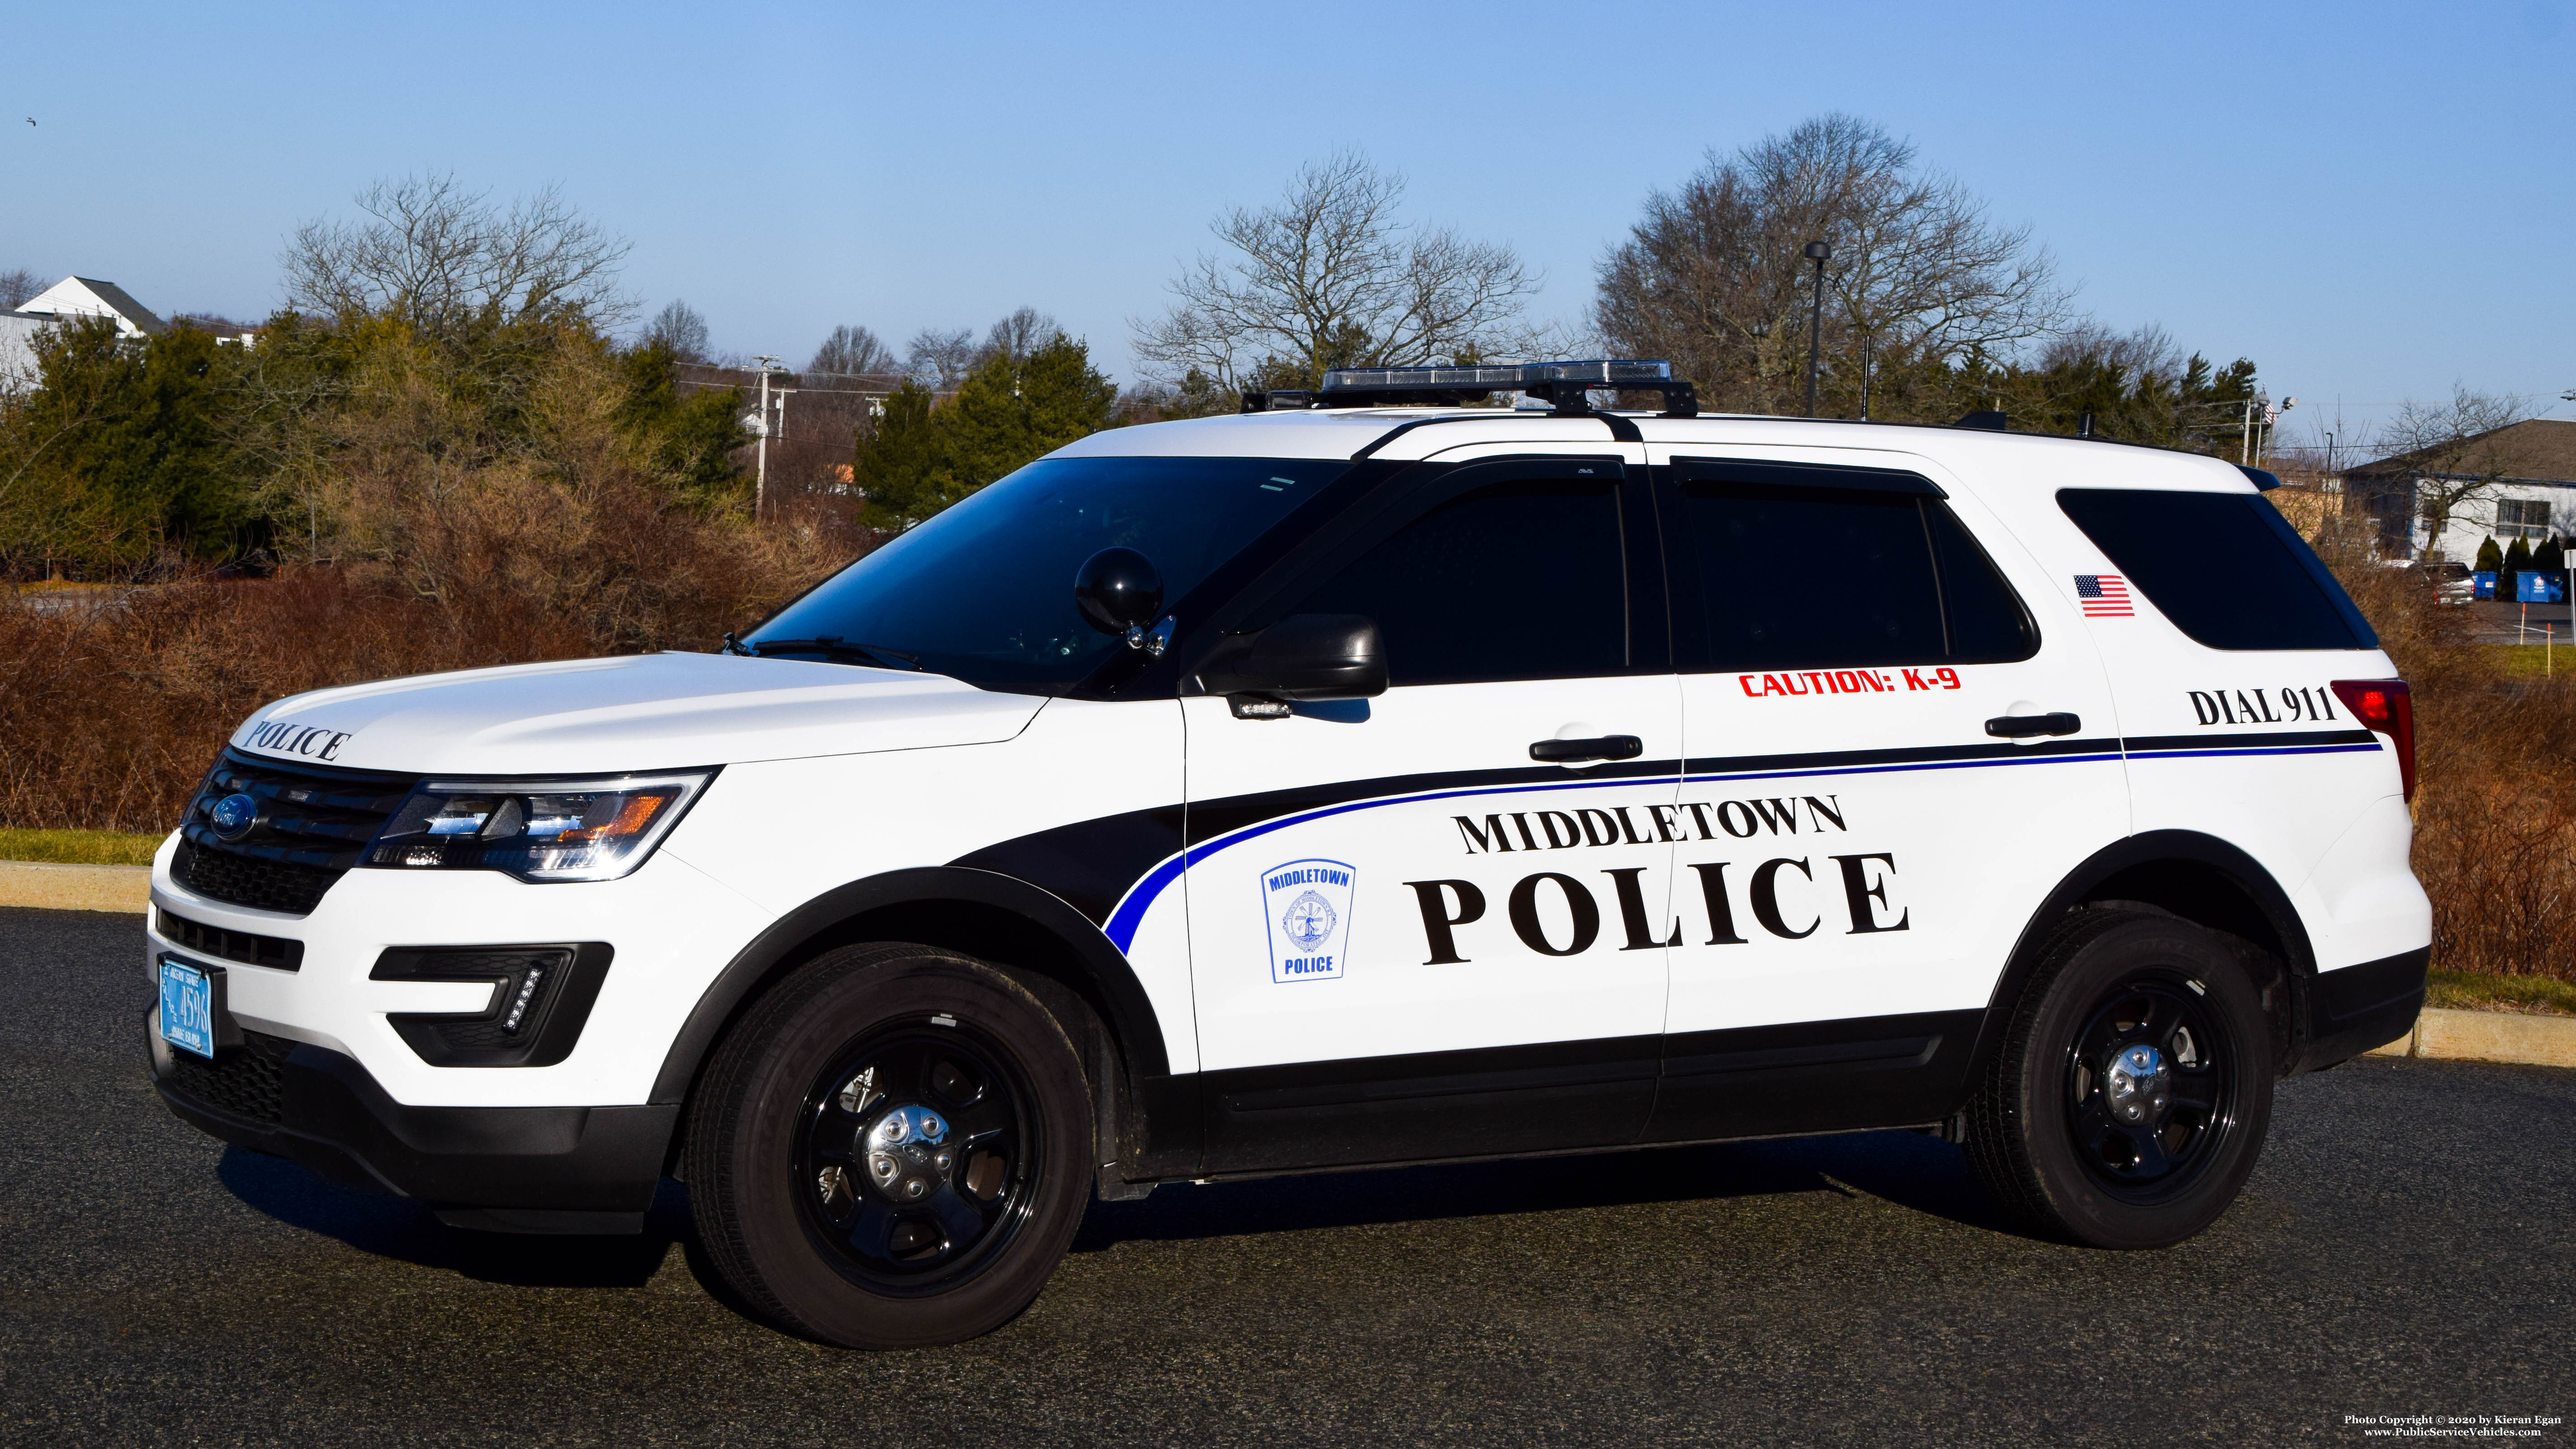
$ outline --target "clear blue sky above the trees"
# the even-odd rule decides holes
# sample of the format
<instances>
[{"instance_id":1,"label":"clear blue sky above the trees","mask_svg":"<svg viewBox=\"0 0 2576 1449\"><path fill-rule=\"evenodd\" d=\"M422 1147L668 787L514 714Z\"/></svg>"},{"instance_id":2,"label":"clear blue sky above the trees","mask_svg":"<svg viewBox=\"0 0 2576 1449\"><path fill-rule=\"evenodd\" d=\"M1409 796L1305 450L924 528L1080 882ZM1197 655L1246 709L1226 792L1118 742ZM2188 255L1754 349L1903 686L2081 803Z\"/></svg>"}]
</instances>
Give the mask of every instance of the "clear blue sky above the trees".
<instances>
[{"instance_id":1,"label":"clear blue sky above the trees","mask_svg":"<svg viewBox=\"0 0 2576 1449\"><path fill-rule=\"evenodd\" d=\"M296 222L453 170L562 183L719 348L1033 304L1126 379L1208 219L1334 147L1574 317L1651 188L1839 108L2030 222L2105 322L2251 356L2285 433L2342 400L2352 438L2452 382L2576 387L2568 10L49 5L0 72L0 268L263 315Z\"/></svg>"}]
</instances>

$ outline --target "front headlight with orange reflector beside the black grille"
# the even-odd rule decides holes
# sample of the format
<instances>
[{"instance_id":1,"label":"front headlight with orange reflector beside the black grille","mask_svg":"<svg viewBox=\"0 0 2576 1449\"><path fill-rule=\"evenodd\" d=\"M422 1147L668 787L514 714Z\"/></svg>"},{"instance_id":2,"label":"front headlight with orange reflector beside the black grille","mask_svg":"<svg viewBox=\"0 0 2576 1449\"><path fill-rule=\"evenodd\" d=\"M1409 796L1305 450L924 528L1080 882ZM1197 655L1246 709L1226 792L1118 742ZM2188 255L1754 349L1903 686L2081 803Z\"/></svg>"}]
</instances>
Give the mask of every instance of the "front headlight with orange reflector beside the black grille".
<instances>
[{"instance_id":1,"label":"front headlight with orange reflector beside the black grille","mask_svg":"<svg viewBox=\"0 0 2576 1449\"><path fill-rule=\"evenodd\" d=\"M366 864L507 871L523 882L618 879L670 835L716 771L549 781L428 781Z\"/></svg>"}]
</instances>

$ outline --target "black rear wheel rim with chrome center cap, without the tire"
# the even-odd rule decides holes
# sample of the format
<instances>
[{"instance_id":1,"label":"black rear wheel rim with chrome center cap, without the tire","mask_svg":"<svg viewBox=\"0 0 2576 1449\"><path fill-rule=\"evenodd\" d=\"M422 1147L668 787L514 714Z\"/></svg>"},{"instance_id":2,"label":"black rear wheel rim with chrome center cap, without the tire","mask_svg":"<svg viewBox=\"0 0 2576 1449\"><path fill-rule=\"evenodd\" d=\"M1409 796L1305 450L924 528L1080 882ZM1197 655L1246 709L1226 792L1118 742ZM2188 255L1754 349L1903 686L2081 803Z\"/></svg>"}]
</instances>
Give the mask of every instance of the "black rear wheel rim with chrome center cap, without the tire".
<instances>
[{"instance_id":1,"label":"black rear wheel rim with chrome center cap, without the tire","mask_svg":"<svg viewBox=\"0 0 2576 1449\"><path fill-rule=\"evenodd\" d=\"M2084 1173L2136 1204L2190 1189L2236 1129L2239 1052L2187 975L2102 993L2066 1055L2066 1127Z\"/></svg>"}]
</instances>

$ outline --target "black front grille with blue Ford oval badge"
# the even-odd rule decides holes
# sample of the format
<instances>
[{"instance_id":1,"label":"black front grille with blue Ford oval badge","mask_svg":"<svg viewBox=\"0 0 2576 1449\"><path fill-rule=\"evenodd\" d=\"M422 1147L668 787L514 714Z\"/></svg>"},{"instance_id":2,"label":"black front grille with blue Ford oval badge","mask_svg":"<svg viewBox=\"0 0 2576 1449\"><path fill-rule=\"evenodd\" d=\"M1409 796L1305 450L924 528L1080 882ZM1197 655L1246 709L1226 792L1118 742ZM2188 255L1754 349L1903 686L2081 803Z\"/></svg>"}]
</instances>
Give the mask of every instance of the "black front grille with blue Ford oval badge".
<instances>
[{"instance_id":1,"label":"black front grille with blue Ford oval badge","mask_svg":"<svg viewBox=\"0 0 2576 1449\"><path fill-rule=\"evenodd\" d=\"M384 830L417 776L281 766L242 750L206 771L180 820L170 861L178 884L232 905L307 915ZM237 841L214 833L214 802L247 794L258 822Z\"/></svg>"}]
</instances>

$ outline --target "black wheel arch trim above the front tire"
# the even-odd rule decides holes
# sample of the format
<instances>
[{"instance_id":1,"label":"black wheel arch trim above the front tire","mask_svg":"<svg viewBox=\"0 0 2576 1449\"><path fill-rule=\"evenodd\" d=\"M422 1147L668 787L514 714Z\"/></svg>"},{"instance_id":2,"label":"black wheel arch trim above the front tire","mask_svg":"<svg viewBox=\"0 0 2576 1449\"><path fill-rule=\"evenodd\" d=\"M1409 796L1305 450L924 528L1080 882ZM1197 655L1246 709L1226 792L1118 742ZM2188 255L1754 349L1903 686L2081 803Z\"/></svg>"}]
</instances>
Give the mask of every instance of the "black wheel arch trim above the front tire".
<instances>
[{"instance_id":1,"label":"black wheel arch trim above the front tire","mask_svg":"<svg viewBox=\"0 0 2576 1449\"><path fill-rule=\"evenodd\" d=\"M1092 1011L1128 1073L1172 1070L1144 982L1087 915L1018 877L922 866L827 890L737 951L665 1052L649 1101L688 1101L716 1042L760 993L814 957L855 941L914 941L1033 972ZM1064 1026L1082 1047L1082 1026Z\"/></svg>"}]
</instances>

